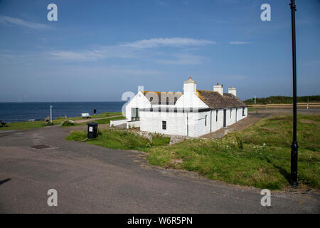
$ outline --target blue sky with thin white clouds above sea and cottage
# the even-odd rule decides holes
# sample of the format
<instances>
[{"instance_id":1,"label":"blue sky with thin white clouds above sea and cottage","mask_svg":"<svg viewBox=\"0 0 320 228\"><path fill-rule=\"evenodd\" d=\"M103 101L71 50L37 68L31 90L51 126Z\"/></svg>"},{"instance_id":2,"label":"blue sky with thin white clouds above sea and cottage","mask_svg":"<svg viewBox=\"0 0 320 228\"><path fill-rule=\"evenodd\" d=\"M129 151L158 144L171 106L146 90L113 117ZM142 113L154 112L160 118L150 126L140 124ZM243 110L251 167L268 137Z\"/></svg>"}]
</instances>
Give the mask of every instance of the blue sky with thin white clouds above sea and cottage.
<instances>
[{"instance_id":1,"label":"blue sky with thin white clouds above sea and cottage","mask_svg":"<svg viewBox=\"0 0 320 228\"><path fill-rule=\"evenodd\" d=\"M319 95L320 1L296 5L298 95ZM242 99L292 95L291 45L289 0L0 0L0 101L118 101L188 76Z\"/></svg>"}]
</instances>

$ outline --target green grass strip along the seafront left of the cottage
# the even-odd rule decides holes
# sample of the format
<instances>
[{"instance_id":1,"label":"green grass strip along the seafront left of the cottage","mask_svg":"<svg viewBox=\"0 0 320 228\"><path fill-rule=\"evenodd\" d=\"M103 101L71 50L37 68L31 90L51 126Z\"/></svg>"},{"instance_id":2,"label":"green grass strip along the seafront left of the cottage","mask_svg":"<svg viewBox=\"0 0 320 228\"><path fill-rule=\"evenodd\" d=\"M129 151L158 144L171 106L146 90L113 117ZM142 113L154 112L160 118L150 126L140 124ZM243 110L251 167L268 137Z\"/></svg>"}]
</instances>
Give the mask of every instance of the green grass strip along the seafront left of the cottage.
<instances>
[{"instance_id":1,"label":"green grass strip along the seafront left of the cottage","mask_svg":"<svg viewBox=\"0 0 320 228\"><path fill-rule=\"evenodd\" d=\"M124 118L124 117L114 117L114 115L122 115L120 112L110 112L110 113L101 113L98 115L92 115L91 118L106 118L106 117L111 117L108 119L105 119L105 122L110 120L118 120L119 118ZM74 117L74 118L68 118L69 120L83 120L80 116L79 117ZM57 119L53 120L53 125L60 125L63 120L65 120L64 117L58 117ZM90 122L90 118L87 119L88 122ZM99 123L100 120L95 120L95 122ZM0 130L26 130L26 129L31 129L31 128L41 128L45 127L45 121L26 121L26 122L16 122L16 123L7 123L8 127L0 128ZM86 125L87 123L81 123L81 124L75 124L75 125ZM102 122L101 122L102 124Z\"/></svg>"}]
</instances>

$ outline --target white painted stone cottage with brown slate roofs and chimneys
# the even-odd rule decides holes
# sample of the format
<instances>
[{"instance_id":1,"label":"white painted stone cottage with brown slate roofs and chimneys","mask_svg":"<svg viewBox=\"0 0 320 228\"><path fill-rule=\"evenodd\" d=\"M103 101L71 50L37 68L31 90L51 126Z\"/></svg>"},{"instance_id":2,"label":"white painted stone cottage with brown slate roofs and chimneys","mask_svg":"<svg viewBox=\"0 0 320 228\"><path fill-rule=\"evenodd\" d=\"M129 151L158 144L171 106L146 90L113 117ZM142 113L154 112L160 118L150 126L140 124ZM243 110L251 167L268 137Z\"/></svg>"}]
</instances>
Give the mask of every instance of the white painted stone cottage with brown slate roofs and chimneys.
<instances>
[{"instance_id":1,"label":"white painted stone cottage with brown slate roofs and chimneys","mask_svg":"<svg viewBox=\"0 0 320 228\"><path fill-rule=\"evenodd\" d=\"M223 93L219 83L212 91L197 90L190 77L183 93L139 91L127 103L125 121L127 128L198 137L247 117L247 105L236 95L233 87Z\"/></svg>"}]
</instances>

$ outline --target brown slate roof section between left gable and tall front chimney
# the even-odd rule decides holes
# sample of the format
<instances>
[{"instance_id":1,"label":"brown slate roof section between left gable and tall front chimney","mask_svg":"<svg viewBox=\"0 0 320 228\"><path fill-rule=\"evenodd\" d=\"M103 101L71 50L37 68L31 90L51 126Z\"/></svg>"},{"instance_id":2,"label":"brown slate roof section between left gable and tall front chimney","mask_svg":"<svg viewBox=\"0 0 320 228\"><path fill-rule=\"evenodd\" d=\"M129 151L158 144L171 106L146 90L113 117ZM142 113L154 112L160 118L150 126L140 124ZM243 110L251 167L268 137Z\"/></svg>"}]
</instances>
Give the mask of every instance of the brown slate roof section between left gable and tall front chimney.
<instances>
[{"instance_id":1,"label":"brown slate roof section between left gable and tall front chimney","mask_svg":"<svg viewBox=\"0 0 320 228\"><path fill-rule=\"evenodd\" d=\"M144 91L151 104L174 105L183 93Z\"/></svg>"}]
</instances>

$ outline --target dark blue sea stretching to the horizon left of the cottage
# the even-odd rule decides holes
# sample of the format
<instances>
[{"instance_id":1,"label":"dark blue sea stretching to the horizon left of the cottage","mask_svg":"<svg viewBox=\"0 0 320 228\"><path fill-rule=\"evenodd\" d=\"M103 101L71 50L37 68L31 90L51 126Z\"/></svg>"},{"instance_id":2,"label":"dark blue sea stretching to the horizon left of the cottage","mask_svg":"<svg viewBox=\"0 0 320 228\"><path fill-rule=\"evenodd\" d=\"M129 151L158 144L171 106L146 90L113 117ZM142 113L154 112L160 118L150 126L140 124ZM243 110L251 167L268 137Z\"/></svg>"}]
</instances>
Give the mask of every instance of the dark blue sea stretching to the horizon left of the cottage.
<instances>
[{"instance_id":1,"label":"dark blue sea stretching to the horizon left of the cottage","mask_svg":"<svg viewBox=\"0 0 320 228\"><path fill-rule=\"evenodd\" d=\"M0 120L6 123L44 120L50 116L50 105L52 118L67 115L77 117L81 113L90 113L97 110L97 114L105 112L121 112L124 102L16 102L0 103Z\"/></svg>"}]
</instances>

